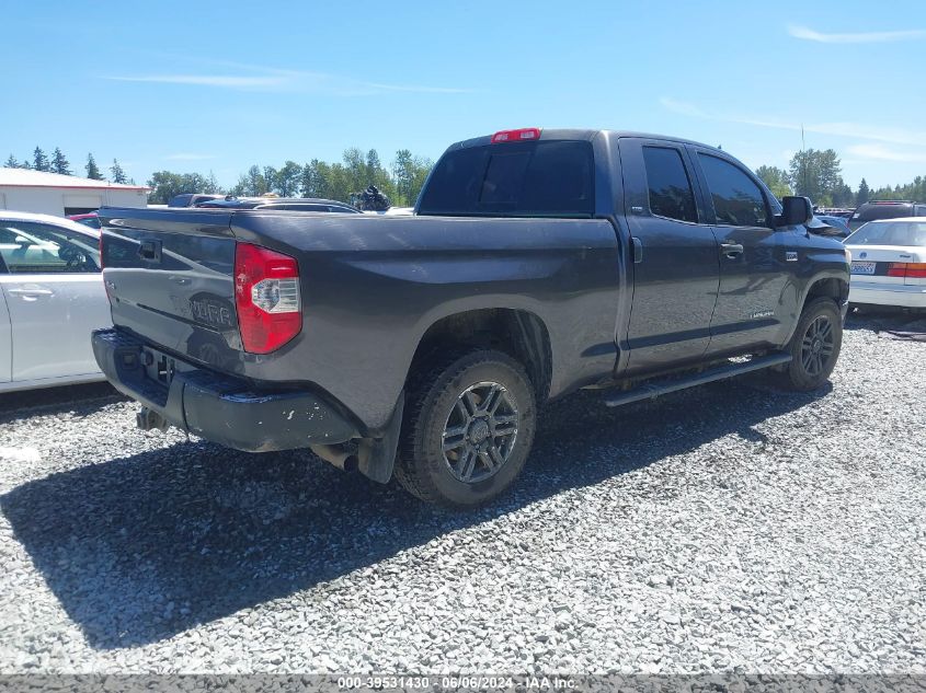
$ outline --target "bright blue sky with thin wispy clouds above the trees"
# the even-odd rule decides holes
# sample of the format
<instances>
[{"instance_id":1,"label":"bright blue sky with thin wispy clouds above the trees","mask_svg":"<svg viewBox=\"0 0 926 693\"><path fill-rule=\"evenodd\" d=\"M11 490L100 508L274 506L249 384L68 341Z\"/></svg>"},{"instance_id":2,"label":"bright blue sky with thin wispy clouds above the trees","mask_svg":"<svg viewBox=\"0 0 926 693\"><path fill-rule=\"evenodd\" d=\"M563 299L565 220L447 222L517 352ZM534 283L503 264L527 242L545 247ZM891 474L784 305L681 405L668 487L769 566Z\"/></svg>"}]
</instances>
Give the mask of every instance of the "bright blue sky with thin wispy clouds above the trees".
<instances>
[{"instance_id":1,"label":"bright blue sky with thin wispy clouds above the trees","mask_svg":"<svg viewBox=\"0 0 926 693\"><path fill-rule=\"evenodd\" d=\"M0 157L151 172L436 159L513 127L688 137L755 168L834 148L857 187L926 174L926 3L7 3ZM677 5L677 7L676 7ZM256 8L256 9L255 9Z\"/></svg>"}]
</instances>

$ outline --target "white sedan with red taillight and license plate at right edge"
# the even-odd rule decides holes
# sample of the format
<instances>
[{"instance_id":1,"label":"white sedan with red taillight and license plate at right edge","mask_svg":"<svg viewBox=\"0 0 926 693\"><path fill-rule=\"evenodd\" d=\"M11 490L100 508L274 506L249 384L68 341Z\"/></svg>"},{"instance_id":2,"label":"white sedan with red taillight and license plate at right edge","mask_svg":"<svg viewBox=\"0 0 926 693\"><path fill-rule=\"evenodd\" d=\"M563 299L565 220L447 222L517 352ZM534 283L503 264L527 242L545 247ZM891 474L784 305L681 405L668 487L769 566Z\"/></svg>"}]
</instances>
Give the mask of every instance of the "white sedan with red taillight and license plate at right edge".
<instances>
[{"instance_id":1,"label":"white sedan with red taillight and license plate at right edge","mask_svg":"<svg viewBox=\"0 0 926 693\"><path fill-rule=\"evenodd\" d=\"M926 219L869 221L846 239L854 305L926 308Z\"/></svg>"}]
</instances>

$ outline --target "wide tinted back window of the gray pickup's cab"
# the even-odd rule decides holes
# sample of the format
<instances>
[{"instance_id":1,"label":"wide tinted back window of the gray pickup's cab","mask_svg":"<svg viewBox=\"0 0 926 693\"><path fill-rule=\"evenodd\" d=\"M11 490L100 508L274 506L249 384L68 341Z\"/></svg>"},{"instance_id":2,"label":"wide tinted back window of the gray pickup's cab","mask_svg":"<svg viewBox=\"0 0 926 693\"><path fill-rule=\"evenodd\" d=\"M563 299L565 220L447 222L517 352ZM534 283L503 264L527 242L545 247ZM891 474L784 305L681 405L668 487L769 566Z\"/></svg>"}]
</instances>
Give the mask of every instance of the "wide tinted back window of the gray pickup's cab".
<instances>
[{"instance_id":1,"label":"wide tinted back window of the gray pickup's cab","mask_svg":"<svg viewBox=\"0 0 926 693\"><path fill-rule=\"evenodd\" d=\"M591 217L592 146L540 141L469 147L445 154L422 194L419 213Z\"/></svg>"}]
</instances>

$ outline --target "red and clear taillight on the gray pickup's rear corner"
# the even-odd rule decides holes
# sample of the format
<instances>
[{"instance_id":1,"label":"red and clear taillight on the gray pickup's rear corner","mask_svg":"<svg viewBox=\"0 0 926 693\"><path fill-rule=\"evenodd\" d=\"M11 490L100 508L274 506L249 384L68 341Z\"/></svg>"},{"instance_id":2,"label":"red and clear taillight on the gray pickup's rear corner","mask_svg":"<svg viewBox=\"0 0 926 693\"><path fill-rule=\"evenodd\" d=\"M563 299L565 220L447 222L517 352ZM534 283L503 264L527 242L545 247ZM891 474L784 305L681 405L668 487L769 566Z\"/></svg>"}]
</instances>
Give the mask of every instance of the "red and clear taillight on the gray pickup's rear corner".
<instances>
[{"instance_id":1,"label":"red and clear taillight on the gray pickup's rear corner","mask_svg":"<svg viewBox=\"0 0 926 693\"><path fill-rule=\"evenodd\" d=\"M299 265L260 245L235 247L235 304L241 344L251 354L270 354L302 328Z\"/></svg>"}]
</instances>

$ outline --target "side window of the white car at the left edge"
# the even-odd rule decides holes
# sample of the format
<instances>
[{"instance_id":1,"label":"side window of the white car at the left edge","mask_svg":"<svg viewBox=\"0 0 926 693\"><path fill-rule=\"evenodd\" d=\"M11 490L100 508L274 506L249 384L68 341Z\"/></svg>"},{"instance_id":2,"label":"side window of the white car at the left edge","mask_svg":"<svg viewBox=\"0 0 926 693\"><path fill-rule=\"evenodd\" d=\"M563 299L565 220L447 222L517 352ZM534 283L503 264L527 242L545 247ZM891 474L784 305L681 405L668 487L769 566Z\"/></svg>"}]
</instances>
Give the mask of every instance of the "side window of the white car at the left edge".
<instances>
[{"instance_id":1,"label":"side window of the white car at the left edge","mask_svg":"<svg viewBox=\"0 0 926 693\"><path fill-rule=\"evenodd\" d=\"M100 272L92 238L30 221L0 220L0 258L11 275Z\"/></svg>"}]
</instances>

